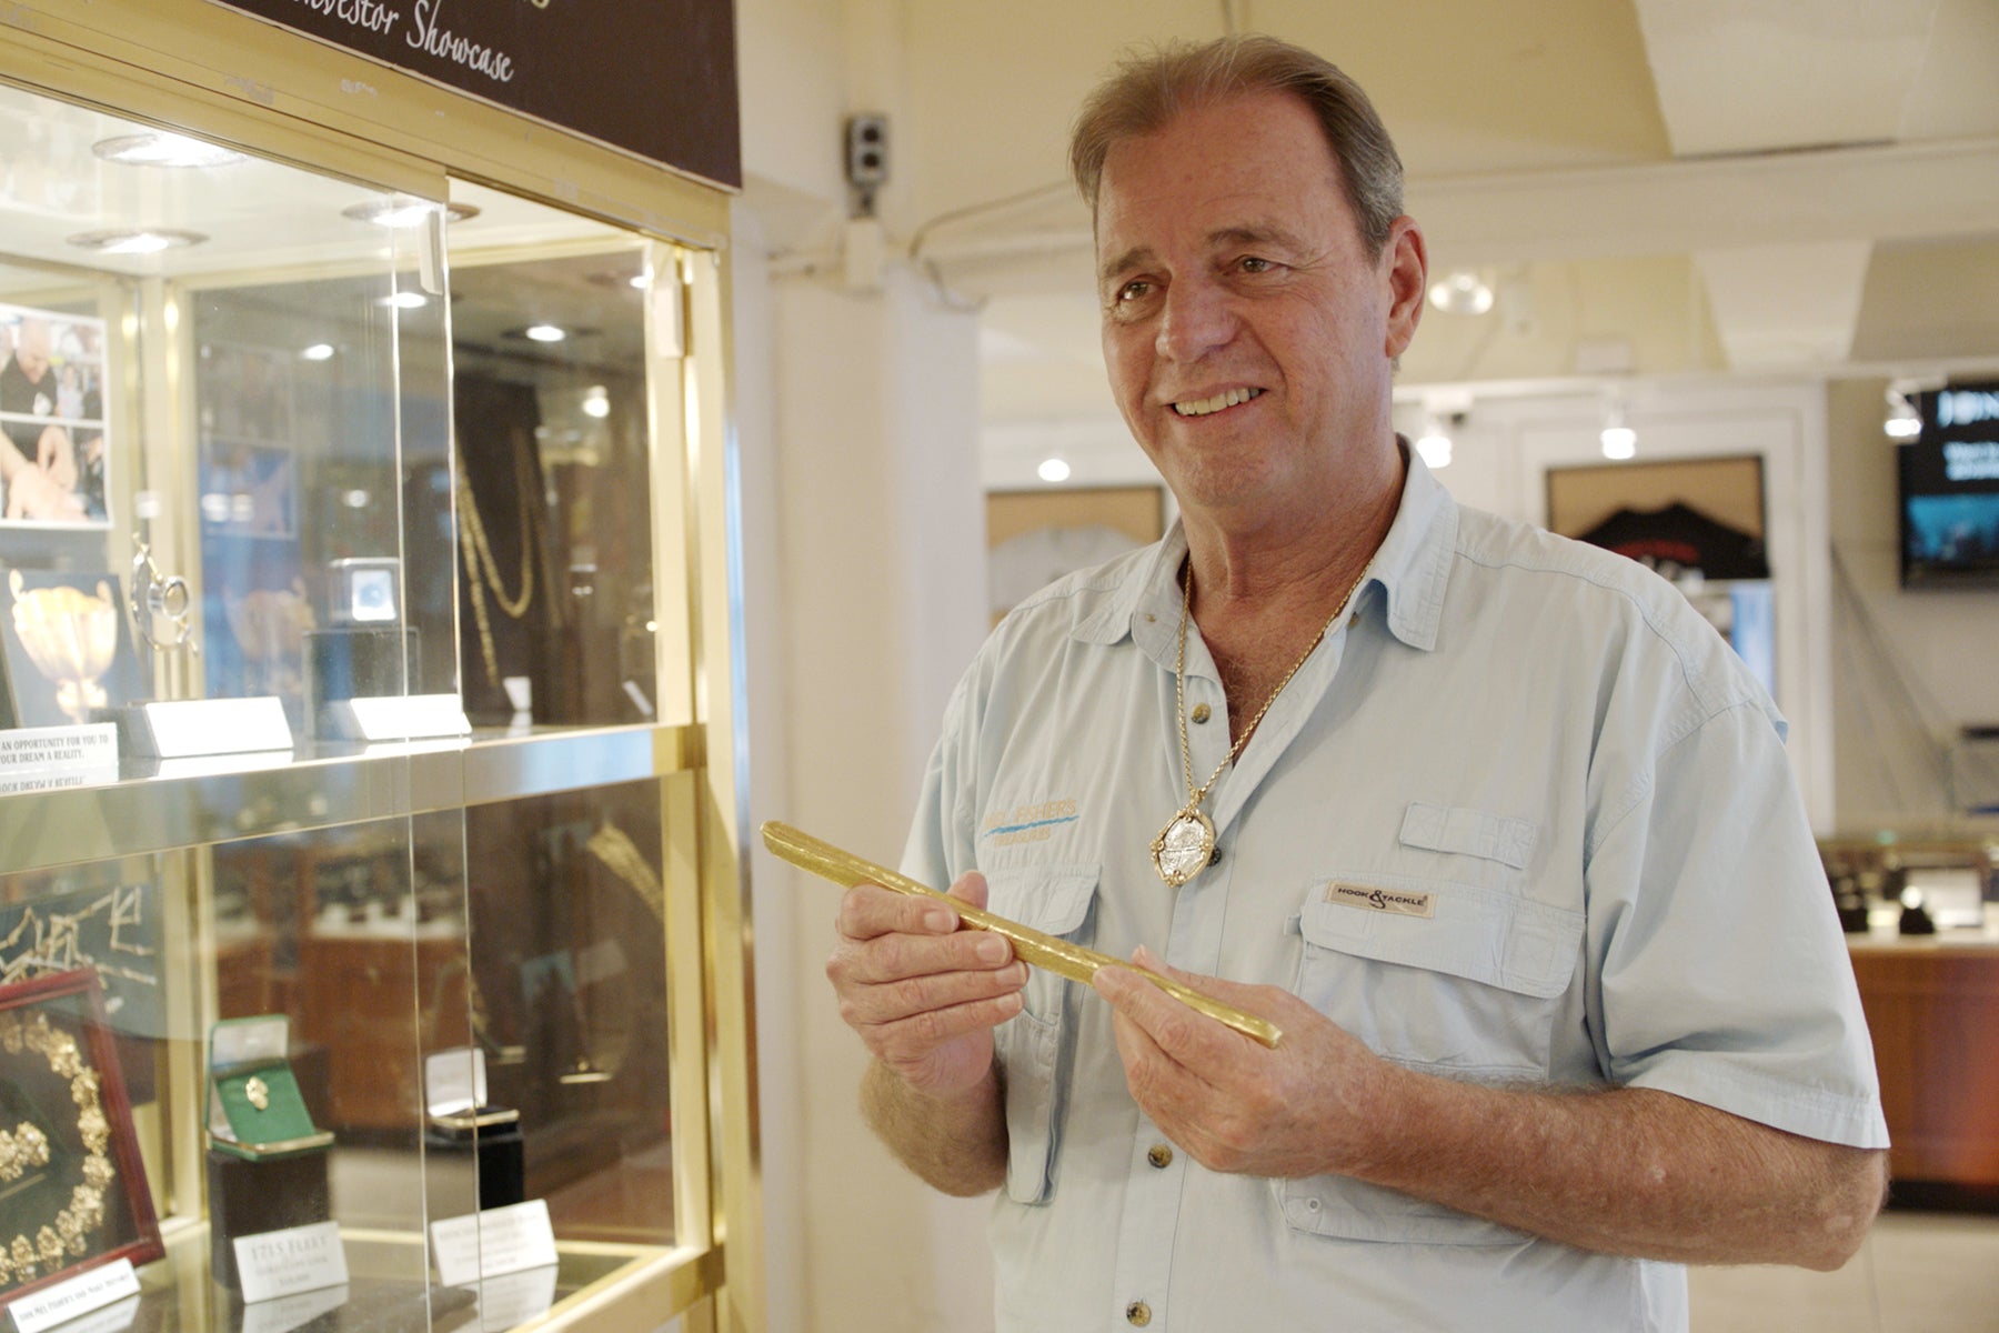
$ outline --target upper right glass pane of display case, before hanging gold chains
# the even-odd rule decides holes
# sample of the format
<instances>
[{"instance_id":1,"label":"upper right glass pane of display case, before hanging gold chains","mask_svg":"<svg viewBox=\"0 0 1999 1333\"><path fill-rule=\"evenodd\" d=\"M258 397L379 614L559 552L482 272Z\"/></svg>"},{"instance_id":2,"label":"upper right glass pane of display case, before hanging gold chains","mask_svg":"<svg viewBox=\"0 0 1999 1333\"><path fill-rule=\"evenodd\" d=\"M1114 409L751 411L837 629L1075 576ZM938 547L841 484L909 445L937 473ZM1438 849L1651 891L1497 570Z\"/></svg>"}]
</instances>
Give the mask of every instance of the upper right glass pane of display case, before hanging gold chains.
<instances>
[{"instance_id":1,"label":"upper right glass pane of display case, before hanging gold chains","mask_svg":"<svg viewBox=\"0 0 1999 1333\"><path fill-rule=\"evenodd\" d=\"M616 246L452 252L460 671L476 723L656 711L646 270L630 240Z\"/></svg>"}]
</instances>

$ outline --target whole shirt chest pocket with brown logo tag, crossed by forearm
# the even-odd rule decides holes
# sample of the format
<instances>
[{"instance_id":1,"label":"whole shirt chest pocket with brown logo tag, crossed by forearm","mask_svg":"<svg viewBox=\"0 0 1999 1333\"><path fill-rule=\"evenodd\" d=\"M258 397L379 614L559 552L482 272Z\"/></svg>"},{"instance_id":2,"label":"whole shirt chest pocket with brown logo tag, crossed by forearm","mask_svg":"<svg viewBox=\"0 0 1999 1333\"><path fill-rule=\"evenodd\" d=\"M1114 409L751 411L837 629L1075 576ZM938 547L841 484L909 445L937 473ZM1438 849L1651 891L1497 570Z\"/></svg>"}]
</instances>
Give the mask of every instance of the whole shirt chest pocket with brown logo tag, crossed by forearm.
<instances>
[{"instance_id":1,"label":"whole shirt chest pocket with brown logo tag, crossed by forearm","mask_svg":"<svg viewBox=\"0 0 1999 1333\"><path fill-rule=\"evenodd\" d=\"M1425 1073L1547 1077L1555 1011L1581 949L1581 911L1395 875L1333 875L1315 889L1295 919L1301 999L1379 1055ZM1335 901L1323 901L1325 893ZM1405 915L1425 907L1427 917ZM1427 1245L1529 1239L1343 1175L1281 1179L1271 1189L1283 1219L1315 1235Z\"/></svg>"}]
</instances>

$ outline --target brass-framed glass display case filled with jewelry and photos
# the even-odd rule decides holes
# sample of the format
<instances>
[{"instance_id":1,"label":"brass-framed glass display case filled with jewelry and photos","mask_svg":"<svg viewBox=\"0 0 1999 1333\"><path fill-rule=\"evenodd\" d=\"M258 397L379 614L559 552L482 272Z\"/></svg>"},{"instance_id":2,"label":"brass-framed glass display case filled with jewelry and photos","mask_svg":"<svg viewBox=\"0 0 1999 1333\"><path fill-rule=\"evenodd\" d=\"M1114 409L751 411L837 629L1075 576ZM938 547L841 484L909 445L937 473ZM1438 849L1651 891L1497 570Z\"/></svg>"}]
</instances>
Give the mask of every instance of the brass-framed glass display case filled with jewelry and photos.
<instances>
[{"instance_id":1,"label":"brass-framed glass display case filled with jewelry and photos","mask_svg":"<svg viewBox=\"0 0 1999 1333\"><path fill-rule=\"evenodd\" d=\"M84 8L0 52L0 1307L758 1327L726 200Z\"/></svg>"}]
</instances>

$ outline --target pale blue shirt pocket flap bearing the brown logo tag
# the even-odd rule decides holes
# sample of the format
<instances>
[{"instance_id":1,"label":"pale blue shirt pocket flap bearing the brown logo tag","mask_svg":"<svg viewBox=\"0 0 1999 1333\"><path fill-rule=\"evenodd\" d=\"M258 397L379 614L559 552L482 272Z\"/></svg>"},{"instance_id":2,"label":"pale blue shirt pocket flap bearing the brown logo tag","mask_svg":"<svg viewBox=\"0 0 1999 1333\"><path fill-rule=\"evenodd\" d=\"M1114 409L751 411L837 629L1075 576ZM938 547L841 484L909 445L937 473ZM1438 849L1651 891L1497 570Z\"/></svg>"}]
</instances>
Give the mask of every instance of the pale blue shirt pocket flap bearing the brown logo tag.
<instances>
[{"instance_id":1,"label":"pale blue shirt pocket flap bearing the brown logo tag","mask_svg":"<svg viewBox=\"0 0 1999 1333\"><path fill-rule=\"evenodd\" d=\"M1329 883L1427 895L1429 917L1325 901ZM1313 885L1299 921L1307 943L1383 963L1425 967L1519 995L1551 999L1575 973L1583 913L1511 893L1403 875L1331 875Z\"/></svg>"}]
</instances>

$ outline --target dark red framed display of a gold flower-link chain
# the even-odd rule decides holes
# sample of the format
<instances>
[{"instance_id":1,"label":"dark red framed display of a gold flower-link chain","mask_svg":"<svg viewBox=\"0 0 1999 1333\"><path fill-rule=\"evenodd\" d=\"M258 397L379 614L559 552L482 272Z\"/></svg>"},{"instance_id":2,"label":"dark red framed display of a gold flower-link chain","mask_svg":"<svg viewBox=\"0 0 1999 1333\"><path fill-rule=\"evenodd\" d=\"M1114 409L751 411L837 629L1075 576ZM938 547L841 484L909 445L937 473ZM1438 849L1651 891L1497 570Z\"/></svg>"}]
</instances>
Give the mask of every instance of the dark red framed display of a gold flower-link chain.
<instances>
[{"instance_id":1,"label":"dark red framed display of a gold flower-link chain","mask_svg":"<svg viewBox=\"0 0 1999 1333\"><path fill-rule=\"evenodd\" d=\"M0 1303L164 1253L96 973L0 987Z\"/></svg>"}]
</instances>

